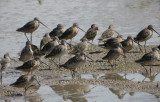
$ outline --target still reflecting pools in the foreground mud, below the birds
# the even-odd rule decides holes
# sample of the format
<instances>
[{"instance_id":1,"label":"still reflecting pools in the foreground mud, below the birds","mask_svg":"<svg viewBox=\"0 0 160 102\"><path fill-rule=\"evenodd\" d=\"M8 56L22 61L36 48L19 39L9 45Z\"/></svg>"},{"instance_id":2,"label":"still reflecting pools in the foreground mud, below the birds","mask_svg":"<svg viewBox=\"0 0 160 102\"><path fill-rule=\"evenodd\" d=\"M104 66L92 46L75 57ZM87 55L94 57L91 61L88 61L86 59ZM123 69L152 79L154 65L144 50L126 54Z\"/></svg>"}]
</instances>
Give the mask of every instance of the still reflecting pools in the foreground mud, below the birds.
<instances>
[{"instance_id":1,"label":"still reflecting pools in the foreground mud, below the birds","mask_svg":"<svg viewBox=\"0 0 160 102\"><path fill-rule=\"evenodd\" d=\"M14 82L19 73L8 72L4 76L5 85ZM152 82L158 82L160 74L153 74L155 80ZM128 73L126 78L123 73L108 73L108 74L82 74L82 79L116 79L116 80L130 80L135 82L151 81L149 78L144 80L144 76L140 73ZM11 78L12 77L12 78ZM14 77L14 78L13 78ZM71 76L60 76L61 78L71 79ZM15 79L15 80L14 80ZM5 97L0 99L0 102L4 102L5 99L11 100L11 102L22 102L25 101L24 96ZM106 100L112 100L112 102L159 102L160 96L146 92L128 92L117 88L108 88L101 85L79 85L79 84L68 84L68 85L41 85L36 94L28 95L26 102L106 102ZM107 101L109 102L109 101Z\"/></svg>"}]
</instances>

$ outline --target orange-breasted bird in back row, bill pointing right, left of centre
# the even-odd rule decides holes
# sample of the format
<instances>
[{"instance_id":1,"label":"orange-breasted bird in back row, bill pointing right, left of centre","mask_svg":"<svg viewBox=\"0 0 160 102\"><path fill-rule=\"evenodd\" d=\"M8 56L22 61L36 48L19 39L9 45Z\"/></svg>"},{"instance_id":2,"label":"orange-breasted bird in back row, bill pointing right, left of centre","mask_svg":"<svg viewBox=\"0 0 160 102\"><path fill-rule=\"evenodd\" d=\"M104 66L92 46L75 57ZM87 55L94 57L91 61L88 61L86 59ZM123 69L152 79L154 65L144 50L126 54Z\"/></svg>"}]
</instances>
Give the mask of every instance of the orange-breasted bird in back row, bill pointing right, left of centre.
<instances>
[{"instance_id":1,"label":"orange-breasted bird in back row, bill pointing right, left of centre","mask_svg":"<svg viewBox=\"0 0 160 102\"><path fill-rule=\"evenodd\" d=\"M60 40L62 39L65 39L65 40L68 40L68 39L71 39L72 41L72 38L75 37L79 31L79 28L78 27L78 24L77 23L74 23L72 27L68 28L63 34L62 36L59 37ZM82 29L81 29L82 30ZM82 30L83 31L83 30Z\"/></svg>"}]
</instances>

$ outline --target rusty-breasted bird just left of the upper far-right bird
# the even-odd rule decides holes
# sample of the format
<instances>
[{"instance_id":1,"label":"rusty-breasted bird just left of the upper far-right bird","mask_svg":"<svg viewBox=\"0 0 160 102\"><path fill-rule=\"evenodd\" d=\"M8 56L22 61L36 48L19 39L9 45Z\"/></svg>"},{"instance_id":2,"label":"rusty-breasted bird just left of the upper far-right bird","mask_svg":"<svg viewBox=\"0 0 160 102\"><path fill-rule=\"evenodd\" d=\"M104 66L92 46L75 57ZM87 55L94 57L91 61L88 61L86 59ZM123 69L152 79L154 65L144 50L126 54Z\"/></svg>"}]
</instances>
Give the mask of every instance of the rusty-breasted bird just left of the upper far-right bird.
<instances>
[{"instance_id":1,"label":"rusty-breasted bird just left of the upper far-right bird","mask_svg":"<svg viewBox=\"0 0 160 102\"><path fill-rule=\"evenodd\" d=\"M122 46L123 46L123 53L127 53L130 50L132 50L134 44L133 44L133 37L132 36L128 36L126 40L121 42Z\"/></svg>"}]
</instances>

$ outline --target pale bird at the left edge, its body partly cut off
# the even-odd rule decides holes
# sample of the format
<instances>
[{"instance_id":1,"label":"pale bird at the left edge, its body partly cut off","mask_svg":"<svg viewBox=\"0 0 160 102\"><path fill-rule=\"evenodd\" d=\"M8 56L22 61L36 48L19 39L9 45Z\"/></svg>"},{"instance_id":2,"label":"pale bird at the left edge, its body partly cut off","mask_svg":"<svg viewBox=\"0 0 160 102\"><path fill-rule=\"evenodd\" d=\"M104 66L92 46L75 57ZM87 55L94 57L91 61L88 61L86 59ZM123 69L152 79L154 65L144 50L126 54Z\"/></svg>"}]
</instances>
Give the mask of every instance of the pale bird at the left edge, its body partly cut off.
<instances>
[{"instance_id":1,"label":"pale bird at the left edge, its body partly cut off","mask_svg":"<svg viewBox=\"0 0 160 102\"><path fill-rule=\"evenodd\" d=\"M9 67L10 61L11 61L11 59L10 59L9 53L6 53L4 55L4 58L2 58L0 60L0 64L1 64L1 66L0 66L1 67L0 68L0 71L1 71L1 84L2 84L2 71L4 71L7 67Z\"/></svg>"}]
</instances>

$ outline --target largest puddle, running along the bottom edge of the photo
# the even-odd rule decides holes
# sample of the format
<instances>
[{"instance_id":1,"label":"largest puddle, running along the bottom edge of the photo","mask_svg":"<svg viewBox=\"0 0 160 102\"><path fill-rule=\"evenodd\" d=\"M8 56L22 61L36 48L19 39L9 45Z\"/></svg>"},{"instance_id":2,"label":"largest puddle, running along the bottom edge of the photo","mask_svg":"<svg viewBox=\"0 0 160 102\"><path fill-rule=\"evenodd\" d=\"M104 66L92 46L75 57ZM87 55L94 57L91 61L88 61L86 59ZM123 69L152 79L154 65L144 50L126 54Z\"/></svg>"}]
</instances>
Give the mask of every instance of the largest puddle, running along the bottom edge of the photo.
<instances>
[{"instance_id":1,"label":"largest puddle, running along the bottom edge of the photo","mask_svg":"<svg viewBox=\"0 0 160 102\"><path fill-rule=\"evenodd\" d=\"M8 100L8 101L5 101ZM94 85L43 85L34 96L27 96L26 102L159 102L157 95ZM22 102L23 96L0 99L0 102Z\"/></svg>"}]
</instances>

